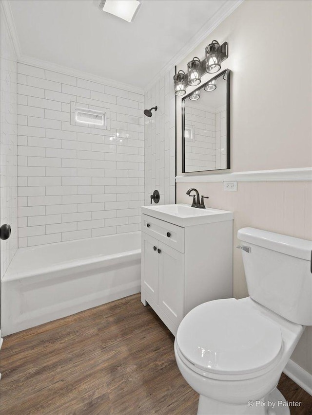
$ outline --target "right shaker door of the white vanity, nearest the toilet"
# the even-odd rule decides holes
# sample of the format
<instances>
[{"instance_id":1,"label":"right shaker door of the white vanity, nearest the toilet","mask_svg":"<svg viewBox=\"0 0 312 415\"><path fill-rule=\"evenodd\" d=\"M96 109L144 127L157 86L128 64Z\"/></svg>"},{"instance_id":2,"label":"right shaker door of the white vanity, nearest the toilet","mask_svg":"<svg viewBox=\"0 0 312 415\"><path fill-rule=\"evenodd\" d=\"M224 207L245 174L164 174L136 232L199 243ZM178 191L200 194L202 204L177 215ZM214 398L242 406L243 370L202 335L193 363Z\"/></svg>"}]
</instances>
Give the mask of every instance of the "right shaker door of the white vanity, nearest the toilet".
<instances>
[{"instance_id":1,"label":"right shaker door of the white vanity, nearest the toilet","mask_svg":"<svg viewBox=\"0 0 312 415\"><path fill-rule=\"evenodd\" d=\"M184 307L184 253L158 245L158 306L178 326Z\"/></svg>"}]
</instances>

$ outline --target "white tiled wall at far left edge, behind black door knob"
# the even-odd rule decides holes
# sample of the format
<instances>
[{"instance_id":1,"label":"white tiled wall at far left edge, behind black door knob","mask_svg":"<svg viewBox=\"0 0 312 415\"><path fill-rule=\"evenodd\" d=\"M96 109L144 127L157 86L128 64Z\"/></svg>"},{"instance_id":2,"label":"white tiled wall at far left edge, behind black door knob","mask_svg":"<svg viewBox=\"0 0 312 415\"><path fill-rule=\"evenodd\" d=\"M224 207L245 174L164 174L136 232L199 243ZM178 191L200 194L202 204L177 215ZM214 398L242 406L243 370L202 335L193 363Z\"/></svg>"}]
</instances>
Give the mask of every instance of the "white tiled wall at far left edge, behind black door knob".
<instances>
[{"instance_id":1,"label":"white tiled wall at far left edge, behind black door knob","mask_svg":"<svg viewBox=\"0 0 312 415\"><path fill-rule=\"evenodd\" d=\"M0 225L11 225L11 237L1 240L1 278L18 247L17 220L17 96L16 54L9 34L4 11L0 13Z\"/></svg>"}]
</instances>

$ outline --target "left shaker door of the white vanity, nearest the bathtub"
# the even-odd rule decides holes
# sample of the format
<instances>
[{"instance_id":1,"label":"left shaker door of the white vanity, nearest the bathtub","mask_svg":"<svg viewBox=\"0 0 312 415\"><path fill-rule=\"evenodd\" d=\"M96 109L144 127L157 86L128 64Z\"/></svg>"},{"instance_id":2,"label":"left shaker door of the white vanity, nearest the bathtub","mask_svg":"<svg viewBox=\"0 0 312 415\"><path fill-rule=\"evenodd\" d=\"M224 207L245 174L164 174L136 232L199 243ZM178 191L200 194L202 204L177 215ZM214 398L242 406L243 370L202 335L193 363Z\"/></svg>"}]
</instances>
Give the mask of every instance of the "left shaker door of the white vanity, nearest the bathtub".
<instances>
[{"instance_id":1,"label":"left shaker door of the white vanity, nearest the bathtub","mask_svg":"<svg viewBox=\"0 0 312 415\"><path fill-rule=\"evenodd\" d=\"M158 241L142 232L141 287L158 304Z\"/></svg>"}]
</instances>

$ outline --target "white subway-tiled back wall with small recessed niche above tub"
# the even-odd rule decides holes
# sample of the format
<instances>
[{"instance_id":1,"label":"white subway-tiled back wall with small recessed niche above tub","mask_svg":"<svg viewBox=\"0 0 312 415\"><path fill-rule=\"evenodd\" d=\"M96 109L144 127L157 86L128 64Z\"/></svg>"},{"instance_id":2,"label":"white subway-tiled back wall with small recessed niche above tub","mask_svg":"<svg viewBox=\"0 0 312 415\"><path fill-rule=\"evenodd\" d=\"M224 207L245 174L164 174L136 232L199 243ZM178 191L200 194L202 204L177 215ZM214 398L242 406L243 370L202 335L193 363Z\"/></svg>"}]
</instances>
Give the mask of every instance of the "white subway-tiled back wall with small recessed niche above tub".
<instances>
[{"instance_id":1,"label":"white subway-tiled back wall with small recessed niche above tub","mask_svg":"<svg viewBox=\"0 0 312 415\"><path fill-rule=\"evenodd\" d=\"M139 229L143 100L134 92L18 64L20 248ZM106 108L110 129L72 125L71 102Z\"/></svg>"}]
</instances>

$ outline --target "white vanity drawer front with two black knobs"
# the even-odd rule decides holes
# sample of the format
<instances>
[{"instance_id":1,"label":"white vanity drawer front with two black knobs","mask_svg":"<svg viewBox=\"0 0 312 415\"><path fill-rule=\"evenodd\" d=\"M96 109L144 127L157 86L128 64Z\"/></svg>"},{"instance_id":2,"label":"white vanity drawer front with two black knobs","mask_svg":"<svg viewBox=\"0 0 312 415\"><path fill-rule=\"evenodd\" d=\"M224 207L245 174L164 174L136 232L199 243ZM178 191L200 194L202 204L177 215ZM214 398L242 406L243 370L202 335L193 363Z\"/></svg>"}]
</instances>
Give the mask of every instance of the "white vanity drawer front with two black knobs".
<instances>
[{"instance_id":1,"label":"white vanity drawer front with two black knobs","mask_svg":"<svg viewBox=\"0 0 312 415\"><path fill-rule=\"evenodd\" d=\"M142 231L158 239L160 242L184 252L184 228L156 219L148 215L142 215Z\"/></svg>"}]
</instances>

